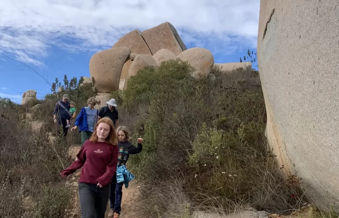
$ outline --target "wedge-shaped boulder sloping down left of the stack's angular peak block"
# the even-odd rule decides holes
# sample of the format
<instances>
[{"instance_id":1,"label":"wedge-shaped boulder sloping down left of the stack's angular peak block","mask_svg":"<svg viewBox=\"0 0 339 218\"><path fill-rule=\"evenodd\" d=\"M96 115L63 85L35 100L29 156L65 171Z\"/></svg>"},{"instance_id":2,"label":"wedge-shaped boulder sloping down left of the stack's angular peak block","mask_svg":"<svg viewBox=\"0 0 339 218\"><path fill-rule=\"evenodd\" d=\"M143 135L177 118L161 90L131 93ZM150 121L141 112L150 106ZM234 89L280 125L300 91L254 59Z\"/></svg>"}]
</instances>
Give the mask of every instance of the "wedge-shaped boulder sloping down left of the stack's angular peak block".
<instances>
[{"instance_id":1,"label":"wedge-shaped boulder sloping down left of the stack's angular peak block","mask_svg":"<svg viewBox=\"0 0 339 218\"><path fill-rule=\"evenodd\" d=\"M139 30L134 30L121 37L112 48L128 47L132 53L152 55L150 48Z\"/></svg>"}]
</instances>

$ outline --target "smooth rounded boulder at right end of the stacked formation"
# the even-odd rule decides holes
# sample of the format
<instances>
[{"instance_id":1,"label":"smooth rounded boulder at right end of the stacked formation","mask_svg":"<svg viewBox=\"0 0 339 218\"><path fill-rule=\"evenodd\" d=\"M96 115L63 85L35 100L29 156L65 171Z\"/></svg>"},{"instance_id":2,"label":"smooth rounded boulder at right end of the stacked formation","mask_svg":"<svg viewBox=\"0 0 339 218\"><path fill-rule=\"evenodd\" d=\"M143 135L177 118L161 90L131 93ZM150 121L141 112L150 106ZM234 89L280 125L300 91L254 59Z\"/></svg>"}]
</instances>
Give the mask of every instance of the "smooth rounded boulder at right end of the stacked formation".
<instances>
[{"instance_id":1,"label":"smooth rounded boulder at right end of the stacked formation","mask_svg":"<svg viewBox=\"0 0 339 218\"><path fill-rule=\"evenodd\" d=\"M214 64L212 53L200 47L189 48L178 55L182 61L187 61L192 67L196 69L192 76L194 78L207 77L211 73Z\"/></svg>"}]
</instances>

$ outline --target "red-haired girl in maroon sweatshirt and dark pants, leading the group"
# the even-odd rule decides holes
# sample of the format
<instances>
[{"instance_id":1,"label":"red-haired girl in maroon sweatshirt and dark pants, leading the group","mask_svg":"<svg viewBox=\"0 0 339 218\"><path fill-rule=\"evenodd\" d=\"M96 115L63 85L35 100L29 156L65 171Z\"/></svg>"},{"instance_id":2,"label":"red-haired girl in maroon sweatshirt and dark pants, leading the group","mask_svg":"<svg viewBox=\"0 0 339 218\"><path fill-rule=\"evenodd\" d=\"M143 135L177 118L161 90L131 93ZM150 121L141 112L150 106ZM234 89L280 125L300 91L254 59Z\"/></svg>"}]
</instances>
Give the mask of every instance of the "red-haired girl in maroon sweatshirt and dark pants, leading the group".
<instances>
[{"instance_id":1,"label":"red-haired girl in maroon sweatshirt and dark pants, leading the group","mask_svg":"<svg viewBox=\"0 0 339 218\"><path fill-rule=\"evenodd\" d=\"M71 166L61 172L62 178L81 169L79 199L81 218L105 218L110 181L118 163L117 134L110 118L95 125L91 139L86 140Z\"/></svg>"}]
</instances>

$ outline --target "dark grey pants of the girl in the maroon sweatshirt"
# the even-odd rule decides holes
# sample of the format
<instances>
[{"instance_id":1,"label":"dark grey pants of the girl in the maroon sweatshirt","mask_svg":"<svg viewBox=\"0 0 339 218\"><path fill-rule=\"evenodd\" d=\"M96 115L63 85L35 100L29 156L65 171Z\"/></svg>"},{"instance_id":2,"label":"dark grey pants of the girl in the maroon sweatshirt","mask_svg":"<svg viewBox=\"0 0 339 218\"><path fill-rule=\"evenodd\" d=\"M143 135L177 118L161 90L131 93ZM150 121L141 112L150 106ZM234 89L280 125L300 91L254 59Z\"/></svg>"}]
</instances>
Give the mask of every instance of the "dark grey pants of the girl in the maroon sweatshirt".
<instances>
[{"instance_id":1,"label":"dark grey pants of the girl in the maroon sweatshirt","mask_svg":"<svg viewBox=\"0 0 339 218\"><path fill-rule=\"evenodd\" d=\"M79 183L81 218L105 218L110 185Z\"/></svg>"}]
</instances>

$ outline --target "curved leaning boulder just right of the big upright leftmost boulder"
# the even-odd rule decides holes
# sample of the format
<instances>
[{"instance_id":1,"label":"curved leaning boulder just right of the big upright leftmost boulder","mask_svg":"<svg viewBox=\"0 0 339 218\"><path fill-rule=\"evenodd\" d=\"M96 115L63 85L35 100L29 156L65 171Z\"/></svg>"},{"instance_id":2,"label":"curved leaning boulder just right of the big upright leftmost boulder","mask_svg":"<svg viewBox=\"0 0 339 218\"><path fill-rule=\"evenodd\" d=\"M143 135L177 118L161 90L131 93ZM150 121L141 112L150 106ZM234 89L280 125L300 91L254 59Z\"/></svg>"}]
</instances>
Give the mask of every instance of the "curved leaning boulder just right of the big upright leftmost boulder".
<instances>
[{"instance_id":1,"label":"curved leaning boulder just right of the big upright leftmost boulder","mask_svg":"<svg viewBox=\"0 0 339 218\"><path fill-rule=\"evenodd\" d=\"M144 54L139 54L137 57L134 59L134 61L131 63L131 66L128 69L127 77L125 80L125 84L123 89L127 88L127 79L131 76L134 76L137 74L139 70L142 70L146 66L156 66L157 63L154 60L154 58L150 55L144 55Z\"/></svg>"}]
</instances>

